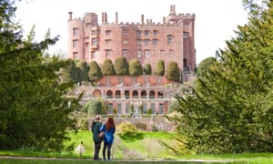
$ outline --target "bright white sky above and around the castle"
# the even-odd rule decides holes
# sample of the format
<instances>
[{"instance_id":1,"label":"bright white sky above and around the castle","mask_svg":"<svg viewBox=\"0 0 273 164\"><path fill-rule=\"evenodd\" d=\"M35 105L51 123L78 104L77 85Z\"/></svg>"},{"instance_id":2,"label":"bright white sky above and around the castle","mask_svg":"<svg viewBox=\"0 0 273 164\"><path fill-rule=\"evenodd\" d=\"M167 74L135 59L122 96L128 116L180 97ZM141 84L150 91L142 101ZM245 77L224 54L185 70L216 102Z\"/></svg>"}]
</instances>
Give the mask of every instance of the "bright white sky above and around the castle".
<instances>
[{"instance_id":1,"label":"bright white sky above and around the castle","mask_svg":"<svg viewBox=\"0 0 273 164\"><path fill-rule=\"evenodd\" d=\"M177 14L195 14L195 47L197 64L209 56L215 56L217 49L226 47L225 42L236 36L234 30L248 23L248 14L242 0L22 0L17 2L15 20L23 26L25 35L35 25L35 40L41 41L50 29L51 36L60 36L50 53L66 54L68 12L82 18L85 13L96 13L101 24L102 12L107 21L138 23L144 19L162 23L170 5L176 6Z\"/></svg>"}]
</instances>

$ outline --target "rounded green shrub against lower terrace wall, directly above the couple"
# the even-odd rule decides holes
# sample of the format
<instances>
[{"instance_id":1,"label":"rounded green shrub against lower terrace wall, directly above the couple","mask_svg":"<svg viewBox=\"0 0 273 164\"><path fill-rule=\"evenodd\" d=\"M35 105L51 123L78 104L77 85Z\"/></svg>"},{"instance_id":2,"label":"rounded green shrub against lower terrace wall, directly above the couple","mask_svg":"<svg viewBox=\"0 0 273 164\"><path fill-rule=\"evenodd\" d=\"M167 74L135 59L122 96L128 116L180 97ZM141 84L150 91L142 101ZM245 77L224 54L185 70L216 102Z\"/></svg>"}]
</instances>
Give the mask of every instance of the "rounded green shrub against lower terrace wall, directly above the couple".
<instances>
[{"instance_id":1,"label":"rounded green shrub against lower terrace wall, directly above the couple","mask_svg":"<svg viewBox=\"0 0 273 164\"><path fill-rule=\"evenodd\" d=\"M102 114L102 102L98 98L92 98L86 102L85 108L88 115Z\"/></svg>"}]
</instances>

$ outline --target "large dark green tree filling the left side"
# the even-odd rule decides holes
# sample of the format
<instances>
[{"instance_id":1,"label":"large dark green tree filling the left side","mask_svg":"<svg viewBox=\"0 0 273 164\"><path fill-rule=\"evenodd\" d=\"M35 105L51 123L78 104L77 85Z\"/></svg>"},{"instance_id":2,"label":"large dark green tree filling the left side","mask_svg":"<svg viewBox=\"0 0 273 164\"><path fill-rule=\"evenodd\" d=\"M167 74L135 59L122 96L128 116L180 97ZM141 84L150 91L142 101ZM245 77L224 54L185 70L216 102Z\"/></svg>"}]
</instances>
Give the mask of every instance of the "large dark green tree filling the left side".
<instances>
[{"instance_id":1,"label":"large dark green tree filling the left side","mask_svg":"<svg viewBox=\"0 0 273 164\"><path fill-rule=\"evenodd\" d=\"M74 128L78 99L66 97L72 83L57 82L68 63L43 54L58 37L35 43L32 30L24 41L12 22L14 2L0 4L0 147L60 150L66 129Z\"/></svg>"}]
</instances>

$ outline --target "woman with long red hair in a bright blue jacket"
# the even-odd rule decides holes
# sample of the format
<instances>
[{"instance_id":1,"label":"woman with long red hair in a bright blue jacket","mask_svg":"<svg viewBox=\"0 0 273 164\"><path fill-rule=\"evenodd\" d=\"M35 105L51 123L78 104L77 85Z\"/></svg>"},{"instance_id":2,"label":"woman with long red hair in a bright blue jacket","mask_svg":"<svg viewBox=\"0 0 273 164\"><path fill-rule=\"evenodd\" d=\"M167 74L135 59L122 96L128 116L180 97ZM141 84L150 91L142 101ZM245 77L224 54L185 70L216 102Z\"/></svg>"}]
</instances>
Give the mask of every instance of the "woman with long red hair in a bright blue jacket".
<instances>
[{"instance_id":1,"label":"woman with long red hair in a bright blue jacket","mask_svg":"<svg viewBox=\"0 0 273 164\"><path fill-rule=\"evenodd\" d=\"M111 147L114 142L115 138L115 132L116 132L116 126L114 123L114 118L108 118L106 124L104 124L101 128L100 131L104 131L104 149L103 149L103 157L104 160L106 160L106 149L107 149L107 159L110 160L111 156Z\"/></svg>"}]
</instances>

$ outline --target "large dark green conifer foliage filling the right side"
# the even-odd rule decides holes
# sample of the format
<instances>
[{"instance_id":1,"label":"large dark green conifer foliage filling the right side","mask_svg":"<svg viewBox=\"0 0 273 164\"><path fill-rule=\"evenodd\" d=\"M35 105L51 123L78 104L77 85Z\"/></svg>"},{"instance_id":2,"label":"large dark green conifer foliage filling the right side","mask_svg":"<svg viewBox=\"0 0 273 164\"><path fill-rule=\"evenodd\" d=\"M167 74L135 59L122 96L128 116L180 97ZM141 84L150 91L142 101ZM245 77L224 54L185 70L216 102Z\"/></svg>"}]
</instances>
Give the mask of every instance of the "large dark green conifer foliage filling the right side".
<instances>
[{"instance_id":1,"label":"large dark green conifer foliage filling the right side","mask_svg":"<svg viewBox=\"0 0 273 164\"><path fill-rule=\"evenodd\" d=\"M238 26L174 118L197 153L273 151L273 2Z\"/></svg>"}]
</instances>

